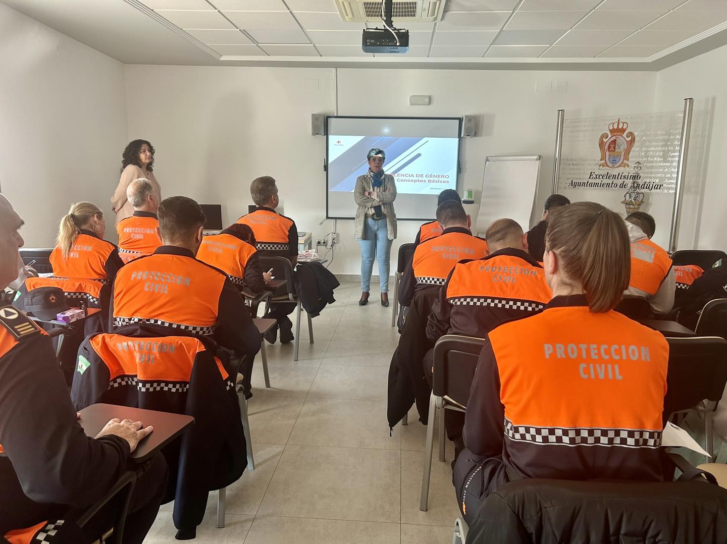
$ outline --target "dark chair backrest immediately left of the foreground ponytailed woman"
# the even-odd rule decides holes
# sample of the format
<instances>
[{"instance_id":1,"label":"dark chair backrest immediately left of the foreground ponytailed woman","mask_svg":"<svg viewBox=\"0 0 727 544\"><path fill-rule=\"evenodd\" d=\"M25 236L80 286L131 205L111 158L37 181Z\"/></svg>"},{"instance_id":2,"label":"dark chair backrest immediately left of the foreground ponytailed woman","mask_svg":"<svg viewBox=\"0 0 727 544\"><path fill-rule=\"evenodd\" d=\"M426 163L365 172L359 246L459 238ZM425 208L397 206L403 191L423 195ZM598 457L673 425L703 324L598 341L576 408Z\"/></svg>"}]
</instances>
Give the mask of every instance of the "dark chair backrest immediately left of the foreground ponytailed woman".
<instances>
[{"instance_id":1,"label":"dark chair backrest immediately left of the foreground ponytailed woman","mask_svg":"<svg viewBox=\"0 0 727 544\"><path fill-rule=\"evenodd\" d=\"M470 399L477 361L480 358L484 338L446 334L434 345L434 377L432 392L437 397L445 395L462 406Z\"/></svg>"}]
</instances>

